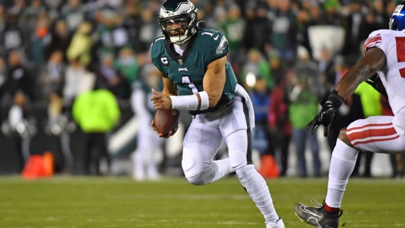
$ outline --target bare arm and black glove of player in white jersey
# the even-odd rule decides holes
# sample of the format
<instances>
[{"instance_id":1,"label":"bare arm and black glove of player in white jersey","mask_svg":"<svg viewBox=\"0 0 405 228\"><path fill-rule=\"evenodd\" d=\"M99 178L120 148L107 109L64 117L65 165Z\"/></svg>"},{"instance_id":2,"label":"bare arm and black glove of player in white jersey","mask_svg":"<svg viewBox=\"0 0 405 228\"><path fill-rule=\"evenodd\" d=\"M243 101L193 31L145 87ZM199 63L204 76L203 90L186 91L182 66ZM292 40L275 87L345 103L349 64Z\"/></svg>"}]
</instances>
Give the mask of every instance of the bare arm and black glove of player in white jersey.
<instances>
[{"instance_id":1,"label":"bare arm and black glove of player in white jersey","mask_svg":"<svg viewBox=\"0 0 405 228\"><path fill-rule=\"evenodd\" d=\"M311 134L314 134L318 127L323 125L323 135L326 137L336 110L339 109L343 101L348 96L351 96L361 82L381 70L385 66L385 62L386 56L381 49L369 49L363 58L343 75L336 89L321 101L322 109L314 120L308 124L308 128L311 128Z\"/></svg>"}]
</instances>

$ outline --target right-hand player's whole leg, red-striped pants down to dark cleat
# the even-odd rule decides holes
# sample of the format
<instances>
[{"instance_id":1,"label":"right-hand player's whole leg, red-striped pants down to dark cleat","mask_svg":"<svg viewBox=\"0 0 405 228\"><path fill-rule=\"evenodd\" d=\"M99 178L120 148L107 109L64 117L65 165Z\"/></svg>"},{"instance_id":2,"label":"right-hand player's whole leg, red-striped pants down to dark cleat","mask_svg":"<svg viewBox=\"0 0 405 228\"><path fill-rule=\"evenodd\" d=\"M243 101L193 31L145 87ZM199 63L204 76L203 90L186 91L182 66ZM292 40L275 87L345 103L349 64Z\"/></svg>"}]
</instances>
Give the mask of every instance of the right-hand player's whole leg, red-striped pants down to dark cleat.
<instances>
[{"instance_id":1,"label":"right-hand player's whole leg, red-striped pants down to dark cleat","mask_svg":"<svg viewBox=\"0 0 405 228\"><path fill-rule=\"evenodd\" d=\"M342 214L343 193L359 150L400 153L405 149L405 140L397 134L392 120L393 117L388 116L369 117L357 120L340 131L330 161L325 203L320 207L296 204L295 210L301 219L317 227L337 227Z\"/></svg>"}]
</instances>

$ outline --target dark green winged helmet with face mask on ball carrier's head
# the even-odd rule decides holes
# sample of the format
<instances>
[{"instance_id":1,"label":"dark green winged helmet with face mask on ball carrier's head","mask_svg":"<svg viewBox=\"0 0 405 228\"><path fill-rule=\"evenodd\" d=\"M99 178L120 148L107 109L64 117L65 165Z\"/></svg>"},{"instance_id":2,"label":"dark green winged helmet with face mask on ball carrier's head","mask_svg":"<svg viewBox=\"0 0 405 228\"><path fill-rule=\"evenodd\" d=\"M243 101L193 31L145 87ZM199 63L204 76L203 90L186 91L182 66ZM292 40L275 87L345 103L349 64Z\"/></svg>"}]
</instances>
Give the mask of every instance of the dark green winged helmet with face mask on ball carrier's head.
<instances>
[{"instance_id":1,"label":"dark green winged helmet with face mask on ball carrier's head","mask_svg":"<svg viewBox=\"0 0 405 228\"><path fill-rule=\"evenodd\" d=\"M197 32L197 9L188 0L169 0L160 8L159 24L169 43L185 44Z\"/></svg>"}]
</instances>

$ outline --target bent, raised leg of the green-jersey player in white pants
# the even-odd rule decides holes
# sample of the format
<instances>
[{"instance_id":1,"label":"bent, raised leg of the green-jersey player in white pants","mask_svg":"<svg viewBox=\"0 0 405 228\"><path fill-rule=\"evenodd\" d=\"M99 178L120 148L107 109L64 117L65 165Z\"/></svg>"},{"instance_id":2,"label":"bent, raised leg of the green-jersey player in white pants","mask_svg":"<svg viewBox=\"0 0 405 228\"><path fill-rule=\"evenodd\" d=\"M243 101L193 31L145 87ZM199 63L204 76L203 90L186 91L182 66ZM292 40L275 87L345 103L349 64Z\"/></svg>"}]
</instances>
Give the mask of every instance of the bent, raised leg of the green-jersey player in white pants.
<instances>
[{"instance_id":1,"label":"bent, raised leg of the green-jersey player in white pants","mask_svg":"<svg viewBox=\"0 0 405 228\"><path fill-rule=\"evenodd\" d=\"M223 140L217 125L217 120L208 121L204 115L198 115L187 130L181 166L194 185L214 182L234 171L229 158L213 161Z\"/></svg>"}]
</instances>

